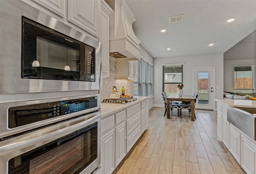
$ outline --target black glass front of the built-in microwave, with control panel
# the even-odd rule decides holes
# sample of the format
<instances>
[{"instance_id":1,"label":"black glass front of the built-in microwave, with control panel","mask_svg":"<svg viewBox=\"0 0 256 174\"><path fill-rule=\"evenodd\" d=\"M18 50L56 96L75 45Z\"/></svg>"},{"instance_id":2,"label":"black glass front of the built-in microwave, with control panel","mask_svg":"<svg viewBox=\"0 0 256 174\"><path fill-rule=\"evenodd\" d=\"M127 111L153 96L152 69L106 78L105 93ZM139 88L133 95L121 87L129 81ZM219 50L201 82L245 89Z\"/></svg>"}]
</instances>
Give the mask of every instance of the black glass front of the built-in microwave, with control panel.
<instances>
[{"instance_id":1,"label":"black glass front of the built-in microwave, with control panel","mask_svg":"<svg viewBox=\"0 0 256 174\"><path fill-rule=\"evenodd\" d=\"M95 81L95 48L22 18L22 78Z\"/></svg>"}]
</instances>

